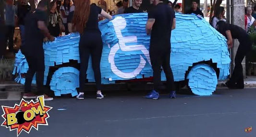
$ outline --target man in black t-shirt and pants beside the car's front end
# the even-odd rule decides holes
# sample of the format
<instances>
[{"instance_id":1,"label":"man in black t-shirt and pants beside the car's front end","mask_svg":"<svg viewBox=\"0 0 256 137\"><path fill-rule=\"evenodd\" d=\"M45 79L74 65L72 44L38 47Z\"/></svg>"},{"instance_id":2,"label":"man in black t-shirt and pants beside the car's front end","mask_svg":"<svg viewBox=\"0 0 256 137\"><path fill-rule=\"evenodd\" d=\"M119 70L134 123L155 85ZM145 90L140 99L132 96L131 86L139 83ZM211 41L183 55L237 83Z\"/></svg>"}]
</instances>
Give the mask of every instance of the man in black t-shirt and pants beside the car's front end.
<instances>
[{"instance_id":1,"label":"man in black t-shirt and pants beside the car's front end","mask_svg":"<svg viewBox=\"0 0 256 137\"><path fill-rule=\"evenodd\" d=\"M41 0L37 5L35 13L27 13L25 17L25 44L21 47L22 53L28 63L28 71L25 80L25 90L23 98L36 98L36 94L31 92L31 83L34 74L37 77L37 92L43 94L45 100L52 100L52 97L46 95L43 87L45 60L43 39L47 37L49 41L54 41L47 29L47 1Z\"/></svg>"}]
</instances>

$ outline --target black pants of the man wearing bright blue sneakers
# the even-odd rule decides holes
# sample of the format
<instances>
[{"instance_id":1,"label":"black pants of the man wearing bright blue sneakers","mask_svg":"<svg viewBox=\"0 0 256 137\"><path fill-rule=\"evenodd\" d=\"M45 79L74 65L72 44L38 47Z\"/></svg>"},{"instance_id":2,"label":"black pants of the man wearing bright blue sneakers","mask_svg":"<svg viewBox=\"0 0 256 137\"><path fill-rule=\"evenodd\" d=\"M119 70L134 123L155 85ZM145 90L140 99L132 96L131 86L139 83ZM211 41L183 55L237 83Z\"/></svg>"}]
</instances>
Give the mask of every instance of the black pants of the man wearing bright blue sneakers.
<instances>
[{"instance_id":1,"label":"black pants of the man wearing bright blue sneakers","mask_svg":"<svg viewBox=\"0 0 256 137\"><path fill-rule=\"evenodd\" d=\"M174 79L170 66L171 48L159 49L159 47L151 46L149 49L150 62L153 68L153 82L154 90L159 91L159 85L161 84L161 72L163 68L168 91L175 91Z\"/></svg>"}]
</instances>

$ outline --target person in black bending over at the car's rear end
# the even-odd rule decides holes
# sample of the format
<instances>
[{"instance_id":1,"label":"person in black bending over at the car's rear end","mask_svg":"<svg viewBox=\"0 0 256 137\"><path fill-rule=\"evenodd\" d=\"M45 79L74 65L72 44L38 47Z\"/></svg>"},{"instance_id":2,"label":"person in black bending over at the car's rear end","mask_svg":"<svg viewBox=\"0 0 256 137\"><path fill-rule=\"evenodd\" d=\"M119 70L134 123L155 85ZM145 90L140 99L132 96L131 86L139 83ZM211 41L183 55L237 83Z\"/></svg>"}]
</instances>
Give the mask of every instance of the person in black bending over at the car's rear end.
<instances>
[{"instance_id":1,"label":"person in black bending over at the car's rear end","mask_svg":"<svg viewBox=\"0 0 256 137\"><path fill-rule=\"evenodd\" d=\"M244 56L251 50L252 48L252 42L249 38L249 35L246 33L246 31L233 24L226 23L225 21L219 21L217 23L217 31L219 31L222 35L224 35L228 39L228 48L232 48L233 46L233 40L232 39L238 39L239 41L239 47L236 52L235 56L235 67L233 70L233 74L231 78L226 82L226 85L228 88L238 88L243 89L244 88L244 75L243 75L243 67L242 67L242 61L244 59Z\"/></svg>"}]
</instances>

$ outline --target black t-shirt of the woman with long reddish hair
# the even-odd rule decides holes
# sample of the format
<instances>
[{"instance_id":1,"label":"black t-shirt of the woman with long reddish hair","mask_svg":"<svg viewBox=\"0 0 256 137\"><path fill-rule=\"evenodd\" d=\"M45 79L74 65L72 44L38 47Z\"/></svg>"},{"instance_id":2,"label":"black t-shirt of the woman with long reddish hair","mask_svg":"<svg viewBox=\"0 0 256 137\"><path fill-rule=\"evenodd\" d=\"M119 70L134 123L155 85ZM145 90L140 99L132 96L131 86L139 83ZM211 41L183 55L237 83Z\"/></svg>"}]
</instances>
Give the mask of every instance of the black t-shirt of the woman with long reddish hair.
<instances>
[{"instance_id":1,"label":"black t-shirt of the woman with long reddish hair","mask_svg":"<svg viewBox=\"0 0 256 137\"><path fill-rule=\"evenodd\" d=\"M98 29L98 14L100 14L102 9L96 5L91 5L89 19L86 23L86 31L99 31Z\"/></svg>"}]
</instances>

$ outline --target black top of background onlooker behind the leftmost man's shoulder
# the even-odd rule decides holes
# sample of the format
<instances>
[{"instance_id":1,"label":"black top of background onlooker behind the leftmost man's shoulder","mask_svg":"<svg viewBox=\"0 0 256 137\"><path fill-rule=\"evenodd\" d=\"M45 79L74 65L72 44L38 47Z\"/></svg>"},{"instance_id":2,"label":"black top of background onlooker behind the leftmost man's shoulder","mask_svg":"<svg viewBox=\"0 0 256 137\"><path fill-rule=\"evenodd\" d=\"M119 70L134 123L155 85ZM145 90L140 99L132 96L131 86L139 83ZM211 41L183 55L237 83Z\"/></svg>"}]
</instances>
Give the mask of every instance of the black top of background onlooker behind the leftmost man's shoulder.
<instances>
[{"instance_id":1,"label":"black top of background onlooker behind the leftmost man's shoulder","mask_svg":"<svg viewBox=\"0 0 256 137\"><path fill-rule=\"evenodd\" d=\"M31 10L29 5L19 5L17 16L19 18L19 24L24 25L24 18L26 14Z\"/></svg>"}]
</instances>

